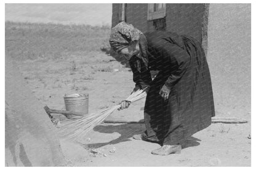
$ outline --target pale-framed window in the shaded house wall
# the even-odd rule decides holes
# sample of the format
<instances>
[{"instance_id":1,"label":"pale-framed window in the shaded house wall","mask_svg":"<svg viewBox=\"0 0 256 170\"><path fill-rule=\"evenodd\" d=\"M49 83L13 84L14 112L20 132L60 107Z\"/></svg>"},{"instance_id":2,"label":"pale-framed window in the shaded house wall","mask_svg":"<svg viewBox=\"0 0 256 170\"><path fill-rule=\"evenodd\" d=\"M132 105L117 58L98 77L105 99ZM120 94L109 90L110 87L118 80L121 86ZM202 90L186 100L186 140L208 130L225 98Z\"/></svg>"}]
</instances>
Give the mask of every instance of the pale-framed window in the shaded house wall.
<instances>
[{"instance_id":1,"label":"pale-framed window in the shaded house wall","mask_svg":"<svg viewBox=\"0 0 256 170\"><path fill-rule=\"evenodd\" d=\"M166 17L166 4L148 4L148 20Z\"/></svg>"}]
</instances>

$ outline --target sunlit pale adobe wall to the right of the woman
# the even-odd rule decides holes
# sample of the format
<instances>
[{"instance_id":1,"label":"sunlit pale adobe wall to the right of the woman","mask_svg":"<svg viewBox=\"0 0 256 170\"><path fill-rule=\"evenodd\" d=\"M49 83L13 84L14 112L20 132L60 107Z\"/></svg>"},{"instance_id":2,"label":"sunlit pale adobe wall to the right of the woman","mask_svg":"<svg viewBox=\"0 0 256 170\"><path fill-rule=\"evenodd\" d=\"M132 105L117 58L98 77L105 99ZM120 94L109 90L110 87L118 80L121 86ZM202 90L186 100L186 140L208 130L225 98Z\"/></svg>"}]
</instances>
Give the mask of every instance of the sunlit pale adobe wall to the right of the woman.
<instances>
[{"instance_id":1,"label":"sunlit pale adobe wall to the right of the woman","mask_svg":"<svg viewBox=\"0 0 256 170\"><path fill-rule=\"evenodd\" d=\"M207 61L215 109L250 112L250 4L210 4Z\"/></svg>"}]
</instances>

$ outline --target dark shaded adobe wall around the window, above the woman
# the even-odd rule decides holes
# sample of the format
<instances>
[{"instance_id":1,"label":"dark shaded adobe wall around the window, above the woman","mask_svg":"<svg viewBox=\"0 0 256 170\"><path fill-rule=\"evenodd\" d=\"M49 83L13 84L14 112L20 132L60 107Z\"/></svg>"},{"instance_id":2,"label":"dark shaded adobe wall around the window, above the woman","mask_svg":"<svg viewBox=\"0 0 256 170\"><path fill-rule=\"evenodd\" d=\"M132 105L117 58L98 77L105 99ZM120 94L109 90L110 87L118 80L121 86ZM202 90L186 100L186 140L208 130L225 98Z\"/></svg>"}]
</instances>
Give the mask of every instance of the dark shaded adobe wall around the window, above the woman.
<instances>
[{"instance_id":1,"label":"dark shaded adobe wall around the window, above the woman","mask_svg":"<svg viewBox=\"0 0 256 170\"><path fill-rule=\"evenodd\" d=\"M193 36L201 42L204 4L166 4L166 31ZM147 20L148 4L127 4L126 22L142 32L154 31ZM119 21L119 4L113 4L112 26Z\"/></svg>"}]
</instances>

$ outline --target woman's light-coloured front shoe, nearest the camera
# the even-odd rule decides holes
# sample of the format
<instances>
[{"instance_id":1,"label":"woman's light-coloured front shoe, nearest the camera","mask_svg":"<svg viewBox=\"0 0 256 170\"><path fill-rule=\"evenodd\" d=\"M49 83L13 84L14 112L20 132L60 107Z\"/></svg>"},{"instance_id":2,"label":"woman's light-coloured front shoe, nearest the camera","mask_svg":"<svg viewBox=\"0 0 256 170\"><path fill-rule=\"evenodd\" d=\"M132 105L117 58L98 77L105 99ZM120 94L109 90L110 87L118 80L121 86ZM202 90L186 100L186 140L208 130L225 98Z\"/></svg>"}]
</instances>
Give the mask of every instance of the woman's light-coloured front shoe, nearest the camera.
<instances>
[{"instance_id":1,"label":"woman's light-coloured front shoe, nearest the camera","mask_svg":"<svg viewBox=\"0 0 256 170\"><path fill-rule=\"evenodd\" d=\"M154 155L170 155L172 153L180 153L182 145L162 145L161 148L153 150L151 153Z\"/></svg>"}]
</instances>

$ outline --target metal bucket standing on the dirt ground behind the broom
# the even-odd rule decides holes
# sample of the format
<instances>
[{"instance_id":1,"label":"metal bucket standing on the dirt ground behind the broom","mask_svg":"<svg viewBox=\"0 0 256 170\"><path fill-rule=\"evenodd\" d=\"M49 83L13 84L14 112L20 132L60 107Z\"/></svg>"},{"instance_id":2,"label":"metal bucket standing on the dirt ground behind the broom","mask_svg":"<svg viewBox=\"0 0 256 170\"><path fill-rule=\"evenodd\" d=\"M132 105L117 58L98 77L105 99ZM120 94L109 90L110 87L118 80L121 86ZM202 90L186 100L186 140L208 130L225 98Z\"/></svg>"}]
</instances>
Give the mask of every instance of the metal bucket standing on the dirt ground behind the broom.
<instances>
[{"instance_id":1,"label":"metal bucket standing on the dirt ground behind the broom","mask_svg":"<svg viewBox=\"0 0 256 170\"><path fill-rule=\"evenodd\" d=\"M65 95L64 102L67 111L80 112L81 115L88 114L89 110L89 95L88 94L72 94ZM66 115L68 118L75 117L74 115Z\"/></svg>"}]
</instances>

